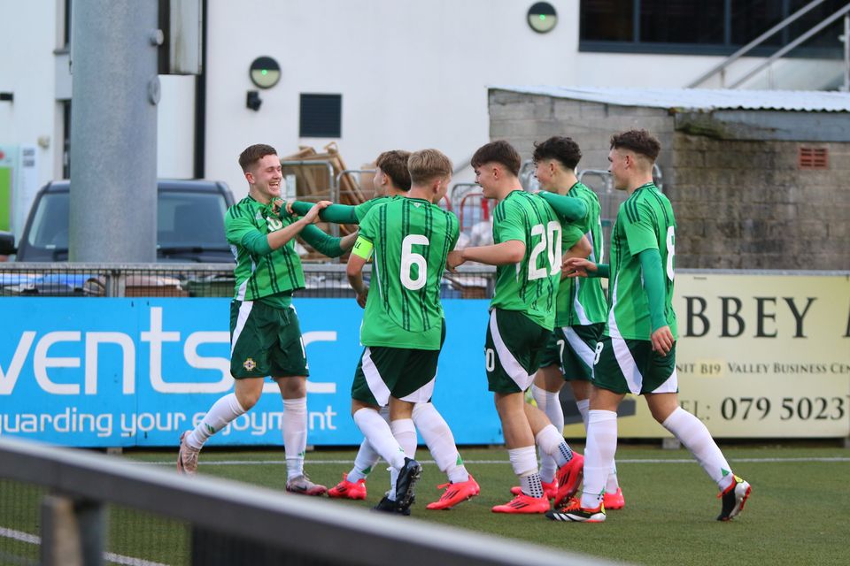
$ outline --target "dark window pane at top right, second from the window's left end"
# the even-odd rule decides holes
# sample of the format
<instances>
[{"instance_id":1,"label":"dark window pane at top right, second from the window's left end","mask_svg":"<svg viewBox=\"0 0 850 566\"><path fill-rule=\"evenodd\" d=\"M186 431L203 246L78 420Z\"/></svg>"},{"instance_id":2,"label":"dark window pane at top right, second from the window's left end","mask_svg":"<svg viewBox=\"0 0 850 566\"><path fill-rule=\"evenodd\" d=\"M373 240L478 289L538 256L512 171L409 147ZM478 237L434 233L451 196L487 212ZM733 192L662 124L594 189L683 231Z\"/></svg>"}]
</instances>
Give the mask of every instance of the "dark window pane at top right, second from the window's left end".
<instances>
[{"instance_id":1,"label":"dark window pane at top right, second from the window's left end","mask_svg":"<svg viewBox=\"0 0 850 566\"><path fill-rule=\"evenodd\" d=\"M641 0L640 41L723 43L724 0Z\"/></svg>"}]
</instances>

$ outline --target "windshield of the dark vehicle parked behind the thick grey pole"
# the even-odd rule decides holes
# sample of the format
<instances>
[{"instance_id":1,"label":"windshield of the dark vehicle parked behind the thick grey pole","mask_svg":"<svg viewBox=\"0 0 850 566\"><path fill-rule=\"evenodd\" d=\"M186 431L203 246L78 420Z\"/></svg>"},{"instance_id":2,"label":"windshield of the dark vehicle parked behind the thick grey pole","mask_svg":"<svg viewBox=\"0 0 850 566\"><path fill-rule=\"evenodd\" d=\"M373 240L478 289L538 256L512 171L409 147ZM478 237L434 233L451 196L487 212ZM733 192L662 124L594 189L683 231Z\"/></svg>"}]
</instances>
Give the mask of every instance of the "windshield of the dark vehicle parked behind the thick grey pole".
<instances>
[{"instance_id":1,"label":"windshield of the dark vehicle parked behind the thick grey pole","mask_svg":"<svg viewBox=\"0 0 850 566\"><path fill-rule=\"evenodd\" d=\"M28 245L64 259L68 249L68 193L45 193L35 211ZM160 191L157 206L158 249L228 250L224 235L227 203L218 193ZM40 255L40 254L38 254Z\"/></svg>"}]
</instances>

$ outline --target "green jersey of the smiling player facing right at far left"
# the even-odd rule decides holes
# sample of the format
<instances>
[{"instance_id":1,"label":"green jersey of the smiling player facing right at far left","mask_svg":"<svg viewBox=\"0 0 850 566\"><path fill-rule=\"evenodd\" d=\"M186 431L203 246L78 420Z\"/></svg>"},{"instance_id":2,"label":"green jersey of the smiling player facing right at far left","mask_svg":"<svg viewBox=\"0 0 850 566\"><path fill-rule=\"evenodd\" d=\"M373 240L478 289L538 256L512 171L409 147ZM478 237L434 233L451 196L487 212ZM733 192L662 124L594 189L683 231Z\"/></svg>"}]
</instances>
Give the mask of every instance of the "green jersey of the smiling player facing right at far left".
<instances>
[{"instance_id":1,"label":"green jersey of the smiling player facing right at far left","mask_svg":"<svg viewBox=\"0 0 850 566\"><path fill-rule=\"evenodd\" d=\"M231 206L224 218L230 250L236 257L234 298L255 301L304 287L301 258L295 251L295 238L265 255L251 253L246 246L251 238L280 230L298 220L281 218L271 204L262 204L246 196Z\"/></svg>"}]
</instances>

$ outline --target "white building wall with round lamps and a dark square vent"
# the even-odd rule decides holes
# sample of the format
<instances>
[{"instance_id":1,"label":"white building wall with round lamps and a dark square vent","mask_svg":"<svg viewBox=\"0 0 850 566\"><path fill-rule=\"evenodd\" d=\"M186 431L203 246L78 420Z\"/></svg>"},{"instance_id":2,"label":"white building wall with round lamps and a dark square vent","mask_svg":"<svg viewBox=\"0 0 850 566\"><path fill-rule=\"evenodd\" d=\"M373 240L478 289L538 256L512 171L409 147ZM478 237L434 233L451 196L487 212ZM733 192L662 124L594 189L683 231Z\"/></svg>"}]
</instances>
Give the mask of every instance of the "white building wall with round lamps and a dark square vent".
<instances>
[{"instance_id":1,"label":"white building wall with round lamps and a dark square vent","mask_svg":"<svg viewBox=\"0 0 850 566\"><path fill-rule=\"evenodd\" d=\"M490 139L487 85L682 87L723 57L631 55L578 51L576 0L551 0L559 22L537 34L526 22L532 0L209 0L205 176L224 180L236 196L247 186L236 164L251 143L281 155L299 144L301 93L343 95L342 137L349 167L384 149L442 149L456 165ZM13 22L0 34L0 144L36 143L42 182L61 176L61 113L67 86L53 50L64 0L4 2ZM282 79L260 91L259 111L245 107L255 57L274 57ZM66 56L65 56L66 57ZM749 65L757 59L741 62ZM741 66L741 68L746 68ZM708 85L708 86L719 86ZM194 80L162 77L158 174L193 173ZM464 172L455 180L470 180Z\"/></svg>"}]
</instances>

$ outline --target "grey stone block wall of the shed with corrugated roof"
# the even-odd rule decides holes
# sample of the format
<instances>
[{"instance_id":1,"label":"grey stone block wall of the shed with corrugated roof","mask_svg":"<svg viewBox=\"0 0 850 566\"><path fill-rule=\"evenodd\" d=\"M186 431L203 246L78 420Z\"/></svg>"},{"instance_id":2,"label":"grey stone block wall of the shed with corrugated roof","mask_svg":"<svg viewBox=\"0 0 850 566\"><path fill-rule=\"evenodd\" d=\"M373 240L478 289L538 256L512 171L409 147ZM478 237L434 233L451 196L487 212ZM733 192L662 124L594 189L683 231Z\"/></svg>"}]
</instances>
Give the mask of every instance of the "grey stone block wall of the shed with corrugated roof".
<instances>
[{"instance_id":1,"label":"grey stone block wall of the shed with corrugated roof","mask_svg":"<svg viewBox=\"0 0 850 566\"><path fill-rule=\"evenodd\" d=\"M719 140L676 132L661 109L502 90L491 90L490 120L491 139L513 143L523 159L534 142L572 137L580 170L607 169L611 134L642 127L658 137L679 267L850 269L850 142ZM799 170L801 145L828 149L830 168ZM623 196L612 195L611 210Z\"/></svg>"}]
</instances>

